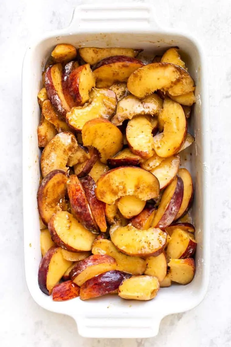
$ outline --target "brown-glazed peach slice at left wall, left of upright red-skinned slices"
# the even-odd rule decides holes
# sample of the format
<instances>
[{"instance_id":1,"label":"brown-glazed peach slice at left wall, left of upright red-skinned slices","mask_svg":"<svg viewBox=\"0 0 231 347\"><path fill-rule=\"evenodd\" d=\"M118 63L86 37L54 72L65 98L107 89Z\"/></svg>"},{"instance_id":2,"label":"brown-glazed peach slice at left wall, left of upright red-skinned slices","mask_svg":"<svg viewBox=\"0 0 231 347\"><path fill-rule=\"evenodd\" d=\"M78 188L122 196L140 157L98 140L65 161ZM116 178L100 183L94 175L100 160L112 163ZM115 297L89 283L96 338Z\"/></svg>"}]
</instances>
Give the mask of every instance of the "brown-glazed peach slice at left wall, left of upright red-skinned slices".
<instances>
[{"instance_id":1,"label":"brown-glazed peach slice at left wall, left of upright red-skinned slices","mask_svg":"<svg viewBox=\"0 0 231 347\"><path fill-rule=\"evenodd\" d=\"M63 170L51 171L38 188L38 212L45 225L52 215L64 209L67 177Z\"/></svg>"}]
</instances>

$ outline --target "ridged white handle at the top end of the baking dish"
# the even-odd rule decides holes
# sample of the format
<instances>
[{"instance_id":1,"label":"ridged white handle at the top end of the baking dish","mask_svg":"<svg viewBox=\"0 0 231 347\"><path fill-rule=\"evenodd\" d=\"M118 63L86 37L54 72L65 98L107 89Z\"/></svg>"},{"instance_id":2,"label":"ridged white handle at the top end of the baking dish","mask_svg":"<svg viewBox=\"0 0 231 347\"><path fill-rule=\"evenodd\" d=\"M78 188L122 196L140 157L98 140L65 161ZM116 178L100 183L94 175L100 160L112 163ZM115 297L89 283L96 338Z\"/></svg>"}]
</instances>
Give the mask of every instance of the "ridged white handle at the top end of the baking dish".
<instances>
[{"instance_id":1,"label":"ridged white handle at the top end of the baking dish","mask_svg":"<svg viewBox=\"0 0 231 347\"><path fill-rule=\"evenodd\" d=\"M159 28L153 7L148 4L94 4L80 5L74 10L69 26L78 32L131 30L142 31Z\"/></svg>"}]
</instances>

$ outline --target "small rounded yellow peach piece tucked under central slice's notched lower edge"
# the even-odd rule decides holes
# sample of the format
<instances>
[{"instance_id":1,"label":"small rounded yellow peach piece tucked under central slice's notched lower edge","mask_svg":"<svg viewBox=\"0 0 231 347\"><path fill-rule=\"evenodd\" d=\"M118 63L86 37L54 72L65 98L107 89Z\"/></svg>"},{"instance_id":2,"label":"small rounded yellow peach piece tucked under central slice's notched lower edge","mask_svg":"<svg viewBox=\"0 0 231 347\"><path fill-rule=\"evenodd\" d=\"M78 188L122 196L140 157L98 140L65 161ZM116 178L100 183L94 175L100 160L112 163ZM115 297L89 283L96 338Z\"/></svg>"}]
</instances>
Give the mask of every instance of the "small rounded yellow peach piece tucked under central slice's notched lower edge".
<instances>
[{"instance_id":1,"label":"small rounded yellow peach piece tucked under central slice's notched lower edge","mask_svg":"<svg viewBox=\"0 0 231 347\"><path fill-rule=\"evenodd\" d=\"M119 199L117 206L123 217L129 219L139 214L143 210L145 203L145 201L133 195L126 195Z\"/></svg>"}]
</instances>

